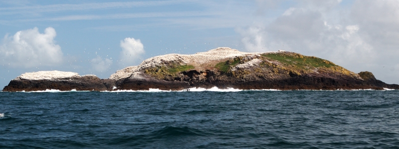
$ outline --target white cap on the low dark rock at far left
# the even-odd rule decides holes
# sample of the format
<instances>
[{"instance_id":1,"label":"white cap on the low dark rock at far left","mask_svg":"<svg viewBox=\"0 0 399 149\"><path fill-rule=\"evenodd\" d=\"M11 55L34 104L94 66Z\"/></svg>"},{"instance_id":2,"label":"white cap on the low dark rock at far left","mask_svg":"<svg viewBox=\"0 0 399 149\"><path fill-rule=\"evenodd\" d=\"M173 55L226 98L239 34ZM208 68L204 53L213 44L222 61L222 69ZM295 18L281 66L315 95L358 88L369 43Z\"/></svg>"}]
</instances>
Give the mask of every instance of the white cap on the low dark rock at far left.
<instances>
[{"instance_id":1,"label":"white cap on the low dark rock at far left","mask_svg":"<svg viewBox=\"0 0 399 149\"><path fill-rule=\"evenodd\" d=\"M21 74L16 77L14 80L53 80L53 79L65 79L65 78L73 78L80 77L76 72L65 72L65 71L38 71L38 72L28 72Z\"/></svg>"}]
</instances>

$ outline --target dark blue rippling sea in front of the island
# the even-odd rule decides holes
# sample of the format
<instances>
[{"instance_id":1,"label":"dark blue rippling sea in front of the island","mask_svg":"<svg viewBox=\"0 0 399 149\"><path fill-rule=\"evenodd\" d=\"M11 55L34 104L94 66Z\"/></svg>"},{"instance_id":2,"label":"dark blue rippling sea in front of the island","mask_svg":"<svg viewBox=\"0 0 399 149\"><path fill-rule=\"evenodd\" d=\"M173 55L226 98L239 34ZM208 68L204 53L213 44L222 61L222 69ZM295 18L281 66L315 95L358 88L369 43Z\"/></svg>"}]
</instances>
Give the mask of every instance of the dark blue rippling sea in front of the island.
<instances>
[{"instance_id":1,"label":"dark blue rippling sea in front of the island","mask_svg":"<svg viewBox=\"0 0 399 149\"><path fill-rule=\"evenodd\" d=\"M398 149L399 91L0 92L1 149Z\"/></svg>"}]
</instances>

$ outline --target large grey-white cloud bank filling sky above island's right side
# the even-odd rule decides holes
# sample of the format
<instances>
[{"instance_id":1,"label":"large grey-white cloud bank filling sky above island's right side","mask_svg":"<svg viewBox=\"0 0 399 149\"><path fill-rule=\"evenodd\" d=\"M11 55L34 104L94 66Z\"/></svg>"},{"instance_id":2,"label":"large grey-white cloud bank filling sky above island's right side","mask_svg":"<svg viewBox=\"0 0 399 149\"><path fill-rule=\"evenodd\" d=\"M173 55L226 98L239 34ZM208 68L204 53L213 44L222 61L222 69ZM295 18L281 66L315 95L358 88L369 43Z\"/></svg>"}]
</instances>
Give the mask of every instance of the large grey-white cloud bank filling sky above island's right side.
<instances>
[{"instance_id":1,"label":"large grey-white cloud bank filling sky above island's right side","mask_svg":"<svg viewBox=\"0 0 399 149\"><path fill-rule=\"evenodd\" d=\"M255 21L235 30L249 51L318 56L354 72L373 71L388 83L397 81L399 69L392 64L399 63L399 1L342 2L298 0L271 22ZM259 2L258 9L263 7Z\"/></svg>"}]
</instances>

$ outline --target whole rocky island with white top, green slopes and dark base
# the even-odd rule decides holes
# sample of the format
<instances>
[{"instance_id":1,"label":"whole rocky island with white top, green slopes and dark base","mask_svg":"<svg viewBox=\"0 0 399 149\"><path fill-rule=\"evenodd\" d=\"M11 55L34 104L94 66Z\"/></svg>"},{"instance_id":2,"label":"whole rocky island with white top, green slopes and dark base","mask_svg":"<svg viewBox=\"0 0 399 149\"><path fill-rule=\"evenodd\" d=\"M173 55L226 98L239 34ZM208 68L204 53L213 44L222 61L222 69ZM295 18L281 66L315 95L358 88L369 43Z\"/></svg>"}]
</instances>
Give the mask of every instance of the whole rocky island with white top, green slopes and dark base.
<instances>
[{"instance_id":1,"label":"whole rocky island with white top, green slopes and dark base","mask_svg":"<svg viewBox=\"0 0 399 149\"><path fill-rule=\"evenodd\" d=\"M191 55L167 54L124 68L108 79L74 72L39 71L11 80L3 91L115 91L190 88L352 90L399 89L371 72L354 73L325 59L277 51L240 52L220 47Z\"/></svg>"}]
</instances>

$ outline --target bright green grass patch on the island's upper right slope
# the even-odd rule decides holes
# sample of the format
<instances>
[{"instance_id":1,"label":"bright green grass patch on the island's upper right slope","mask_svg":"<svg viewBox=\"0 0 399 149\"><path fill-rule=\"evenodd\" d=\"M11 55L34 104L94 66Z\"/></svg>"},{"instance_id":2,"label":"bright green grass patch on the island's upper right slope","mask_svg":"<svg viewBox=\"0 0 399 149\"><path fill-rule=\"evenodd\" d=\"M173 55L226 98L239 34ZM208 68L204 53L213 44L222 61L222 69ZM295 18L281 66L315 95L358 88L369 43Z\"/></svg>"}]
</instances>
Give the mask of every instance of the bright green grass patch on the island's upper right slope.
<instances>
[{"instance_id":1,"label":"bright green grass patch on the island's upper right slope","mask_svg":"<svg viewBox=\"0 0 399 149\"><path fill-rule=\"evenodd\" d=\"M295 67L299 69L310 69L317 67L326 67L330 68L332 66L337 66L334 63L321 59L314 56L304 56L298 53L267 53L262 54L262 56L266 57L270 60L279 61L286 67Z\"/></svg>"}]
</instances>

